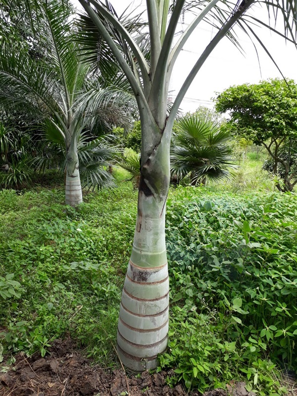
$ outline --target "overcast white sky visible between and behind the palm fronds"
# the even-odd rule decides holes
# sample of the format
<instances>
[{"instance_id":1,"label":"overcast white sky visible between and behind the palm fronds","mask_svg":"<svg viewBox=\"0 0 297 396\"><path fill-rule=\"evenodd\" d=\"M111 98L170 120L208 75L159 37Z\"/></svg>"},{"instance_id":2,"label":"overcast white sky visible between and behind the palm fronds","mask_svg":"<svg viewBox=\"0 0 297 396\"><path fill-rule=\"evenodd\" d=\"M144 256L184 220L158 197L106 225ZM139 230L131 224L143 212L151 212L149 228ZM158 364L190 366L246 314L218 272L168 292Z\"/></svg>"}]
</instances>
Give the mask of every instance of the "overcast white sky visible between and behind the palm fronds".
<instances>
[{"instance_id":1,"label":"overcast white sky visible between and behind the palm fronds","mask_svg":"<svg viewBox=\"0 0 297 396\"><path fill-rule=\"evenodd\" d=\"M72 2L76 6L79 4L77 0L72 0ZM139 9L144 9L146 4L145 0L110 0L110 2L119 14L130 3L132 3L133 7L140 5ZM265 9L261 9L259 5L255 5L250 12L267 23L267 12ZM179 23L177 32L185 30L187 23L192 19L193 15L189 14L186 16L186 23ZM258 83L262 79L281 77L271 59L257 44L260 71L253 44L245 33L240 30L237 30L237 32L240 43L245 50L245 56L227 38L222 39L205 61L192 86L189 88L181 106L184 111L194 111L199 105L213 107L211 98L215 96L215 92L222 92L231 85ZM176 61L172 75L170 90L172 91L173 99L214 33L210 25L204 24L196 29L186 43L184 50ZM274 33L271 34L265 28L258 28L257 33L276 60L283 74L297 81L297 49L294 45L291 43L286 44L282 37Z\"/></svg>"}]
</instances>

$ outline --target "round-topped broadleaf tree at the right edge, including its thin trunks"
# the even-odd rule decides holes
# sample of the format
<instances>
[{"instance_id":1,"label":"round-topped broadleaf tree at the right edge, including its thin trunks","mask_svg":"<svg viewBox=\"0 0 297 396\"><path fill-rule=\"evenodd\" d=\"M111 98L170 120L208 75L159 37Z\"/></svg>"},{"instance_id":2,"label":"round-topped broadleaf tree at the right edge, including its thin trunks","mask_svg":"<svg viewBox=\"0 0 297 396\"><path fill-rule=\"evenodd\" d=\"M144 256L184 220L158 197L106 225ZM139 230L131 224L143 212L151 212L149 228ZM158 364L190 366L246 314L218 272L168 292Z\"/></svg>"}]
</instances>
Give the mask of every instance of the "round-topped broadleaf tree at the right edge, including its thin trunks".
<instances>
[{"instance_id":1,"label":"round-topped broadleaf tree at the right edge, including its thin trunks","mask_svg":"<svg viewBox=\"0 0 297 396\"><path fill-rule=\"evenodd\" d=\"M280 191L292 191L297 183L292 169L292 138L297 137L297 85L294 80L270 79L226 89L216 99L216 110L229 112L224 130L263 145L273 159L272 171L283 179ZM287 147L287 156L281 155ZM279 173L279 165L284 171Z\"/></svg>"}]
</instances>

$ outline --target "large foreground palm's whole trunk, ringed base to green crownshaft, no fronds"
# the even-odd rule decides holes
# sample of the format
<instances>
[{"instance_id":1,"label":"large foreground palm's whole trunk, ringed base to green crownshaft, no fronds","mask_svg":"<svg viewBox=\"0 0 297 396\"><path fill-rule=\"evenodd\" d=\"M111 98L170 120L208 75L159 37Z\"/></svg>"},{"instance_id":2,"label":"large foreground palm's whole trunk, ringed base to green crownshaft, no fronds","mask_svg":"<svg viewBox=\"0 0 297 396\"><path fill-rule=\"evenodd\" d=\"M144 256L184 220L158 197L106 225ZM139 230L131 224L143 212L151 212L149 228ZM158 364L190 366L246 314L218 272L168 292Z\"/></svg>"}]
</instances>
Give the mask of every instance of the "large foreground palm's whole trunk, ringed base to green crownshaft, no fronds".
<instances>
[{"instance_id":1,"label":"large foreground palm's whole trunk, ringed base to green crownshaft, no fronds","mask_svg":"<svg viewBox=\"0 0 297 396\"><path fill-rule=\"evenodd\" d=\"M167 346L165 206L170 172L165 139L161 137L141 166L134 242L120 307L117 350L125 366L136 371L156 367L157 354Z\"/></svg>"}]
</instances>

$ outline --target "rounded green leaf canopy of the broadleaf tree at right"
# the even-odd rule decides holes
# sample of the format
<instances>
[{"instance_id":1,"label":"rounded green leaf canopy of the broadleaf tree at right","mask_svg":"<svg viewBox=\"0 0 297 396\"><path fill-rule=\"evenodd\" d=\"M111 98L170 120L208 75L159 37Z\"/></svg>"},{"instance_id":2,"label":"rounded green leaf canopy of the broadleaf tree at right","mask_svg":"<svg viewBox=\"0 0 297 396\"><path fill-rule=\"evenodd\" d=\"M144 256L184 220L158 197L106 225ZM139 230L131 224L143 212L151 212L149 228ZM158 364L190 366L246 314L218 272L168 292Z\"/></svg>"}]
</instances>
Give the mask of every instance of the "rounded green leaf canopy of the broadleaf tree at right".
<instances>
[{"instance_id":1,"label":"rounded green leaf canopy of the broadleaf tree at right","mask_svg":"<svg viewBox=\"0 0 297 396\"><path fill-rule=\"evenodd\" d=\"M225 125L254 144L297 133L297 85L294 80L270 79L230 87L218 95L216 110L228 112Z\"/></svg>"}]
</instances>

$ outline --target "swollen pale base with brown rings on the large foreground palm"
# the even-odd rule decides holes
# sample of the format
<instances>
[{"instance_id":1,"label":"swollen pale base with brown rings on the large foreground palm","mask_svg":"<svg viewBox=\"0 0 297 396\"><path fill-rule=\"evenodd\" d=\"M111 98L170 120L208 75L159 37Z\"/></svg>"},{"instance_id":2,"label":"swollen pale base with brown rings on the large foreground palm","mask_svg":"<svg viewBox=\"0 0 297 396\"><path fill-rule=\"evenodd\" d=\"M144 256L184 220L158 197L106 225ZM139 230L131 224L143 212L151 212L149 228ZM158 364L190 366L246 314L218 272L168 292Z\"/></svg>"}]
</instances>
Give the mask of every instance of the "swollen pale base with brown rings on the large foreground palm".
<instances>
[{"instance_id":1,"label":"swollen pale base with brown rings on the large foreground palm","mask_svg":"<svg viewBox=\"0 0 297 396\"><path fill-rule=\"evenodd\" d=\"M129 262L118 323L117 351L135 371L153 369L167 346L169 280L167 263L142 268Z\"/></svg>"}]
</instances>

